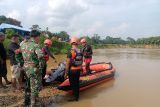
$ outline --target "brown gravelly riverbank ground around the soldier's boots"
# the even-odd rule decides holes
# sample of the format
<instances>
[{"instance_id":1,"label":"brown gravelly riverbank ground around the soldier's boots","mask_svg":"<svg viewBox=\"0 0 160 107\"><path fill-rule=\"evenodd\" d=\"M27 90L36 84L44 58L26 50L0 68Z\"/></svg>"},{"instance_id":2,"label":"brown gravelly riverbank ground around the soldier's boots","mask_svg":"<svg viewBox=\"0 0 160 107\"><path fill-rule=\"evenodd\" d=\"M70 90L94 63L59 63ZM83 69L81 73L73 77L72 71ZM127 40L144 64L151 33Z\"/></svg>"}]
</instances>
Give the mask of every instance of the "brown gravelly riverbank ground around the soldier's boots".
<instances>
[{"instance_id":1,"label":"brown gravelly riverbank ground around the soldier's boots","mask_svg":"<svg viewBox=\"0 0 160 107\"><path fill-rule=\"evenodd\" d=\"M60 104L67 99L67 93L54 89L56 83L43 87L39 97L43 107L51 104ZM0 89L0 107L22 107L24 102L24 92L13 92L11 86Z\"/></svg>"}]
</instances>

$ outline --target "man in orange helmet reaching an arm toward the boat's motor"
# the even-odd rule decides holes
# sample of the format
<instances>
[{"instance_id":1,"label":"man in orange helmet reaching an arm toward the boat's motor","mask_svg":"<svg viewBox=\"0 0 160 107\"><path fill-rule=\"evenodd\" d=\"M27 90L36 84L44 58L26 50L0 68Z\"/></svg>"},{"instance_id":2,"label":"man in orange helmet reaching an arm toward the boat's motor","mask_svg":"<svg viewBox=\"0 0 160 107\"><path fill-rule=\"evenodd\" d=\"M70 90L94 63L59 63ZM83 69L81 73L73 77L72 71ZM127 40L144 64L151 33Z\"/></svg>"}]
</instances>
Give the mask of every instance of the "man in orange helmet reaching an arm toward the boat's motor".
<instances>
[{"instance_id":1,"label":"man in orange helmet reaching an arm toward the boat's motor","mask_svg":"<svg viewBox=\"0 0 160 107\"><path fill-rule=\"evenodd\" d=\"M50 39L46 39L44 41L44 47L42 48L42 52L44 54L44 58L45 58L45 64L44 64L44 67L42 69L42 84L43 86L45 85L48 85L46 82L45 82L45 75L46 75L46 69L47 69L47 61L49 60L49 57L53 58L56 61L56 58L53 56L53 54L50 52L49 48L52 46L52 41Z\"/></svg>"}]
</instances>

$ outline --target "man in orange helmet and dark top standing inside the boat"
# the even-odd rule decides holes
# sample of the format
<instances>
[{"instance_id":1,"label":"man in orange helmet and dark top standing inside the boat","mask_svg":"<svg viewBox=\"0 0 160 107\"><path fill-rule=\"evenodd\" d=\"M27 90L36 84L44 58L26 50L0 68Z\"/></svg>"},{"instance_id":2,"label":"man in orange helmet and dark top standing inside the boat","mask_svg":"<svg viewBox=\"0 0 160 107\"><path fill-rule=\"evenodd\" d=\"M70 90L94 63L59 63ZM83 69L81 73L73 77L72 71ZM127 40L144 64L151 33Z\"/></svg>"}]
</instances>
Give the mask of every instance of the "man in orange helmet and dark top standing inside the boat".
<instances>
[{"instance_id":1,"label":"man in orange helmet and dark top standing inside the boat","mask_svg":"<svg viewBox=\"0 0 160 107\"><path fill-rule=\"evenodd\" d=\"M89 44L87 44L87 41L85 38L82 38L80 42L81 42L81 45L83 46L81 48L81 52L83 53L83 56L84 56L84 63L85 63L87 74L91 74L90 63L92 61L92 54L93 54L92 47Z\"/></svg>"}]
</instances>

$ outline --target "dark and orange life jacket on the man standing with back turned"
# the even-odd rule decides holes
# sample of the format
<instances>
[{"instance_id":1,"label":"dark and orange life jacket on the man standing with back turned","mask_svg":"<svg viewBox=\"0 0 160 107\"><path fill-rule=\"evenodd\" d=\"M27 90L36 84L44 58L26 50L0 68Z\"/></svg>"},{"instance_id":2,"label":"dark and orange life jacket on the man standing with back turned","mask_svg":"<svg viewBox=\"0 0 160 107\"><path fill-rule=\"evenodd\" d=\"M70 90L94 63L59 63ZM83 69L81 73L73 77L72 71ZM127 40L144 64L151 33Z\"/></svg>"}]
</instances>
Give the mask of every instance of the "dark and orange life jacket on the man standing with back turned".
<instances>
[{"instance_id":1,"label":"dark and orange life jacket on the man standing with back turned","mask_svg":"<svg viewBox=\"0 0 160 107\"><path fill-rule=\"evenodd\" d=\"M71 67L80 67L83 64L83 54L80 50L71 49Z\"/></svg>"}]
</instances>

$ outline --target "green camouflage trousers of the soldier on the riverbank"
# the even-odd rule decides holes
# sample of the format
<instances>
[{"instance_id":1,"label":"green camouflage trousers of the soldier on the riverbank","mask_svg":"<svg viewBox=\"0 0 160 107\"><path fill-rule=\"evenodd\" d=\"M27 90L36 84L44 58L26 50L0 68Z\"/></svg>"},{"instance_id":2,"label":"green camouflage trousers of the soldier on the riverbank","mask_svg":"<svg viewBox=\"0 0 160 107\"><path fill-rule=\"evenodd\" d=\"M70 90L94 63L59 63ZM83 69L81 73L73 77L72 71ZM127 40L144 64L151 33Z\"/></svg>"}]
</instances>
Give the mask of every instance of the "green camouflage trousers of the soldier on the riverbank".
<instances>
[{"instance_id":1,"label":"green camouflage trousers of the soldier on the riverbank","mask_svg":"<svg viewBox=\"0 0 160 107\"><path fill-rule=\"evenodd\" d=\"M42 88L42 76L38 68L25 67L25 104L36 103Z\"/></svg>"}]
</instances>

